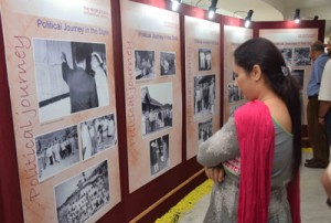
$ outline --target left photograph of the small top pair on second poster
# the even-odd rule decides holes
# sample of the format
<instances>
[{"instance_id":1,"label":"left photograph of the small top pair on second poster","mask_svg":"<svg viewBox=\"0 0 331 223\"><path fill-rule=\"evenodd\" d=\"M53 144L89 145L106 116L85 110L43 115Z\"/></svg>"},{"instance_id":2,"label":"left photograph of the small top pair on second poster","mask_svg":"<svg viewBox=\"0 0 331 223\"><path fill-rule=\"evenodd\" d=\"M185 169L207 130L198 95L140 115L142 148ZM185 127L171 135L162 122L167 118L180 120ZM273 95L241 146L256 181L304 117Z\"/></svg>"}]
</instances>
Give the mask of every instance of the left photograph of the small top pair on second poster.
<instances>
[{"instance_id":1,"label":"left photograph of the small top pair on second poster","mask_svg":"<svg viewBox=\"0 0 331 223\"><path fill-rule=\"evenodd\" d=\"M136 79L156 78L154 51L135 51Z\"/></svg>"}]
</instances>

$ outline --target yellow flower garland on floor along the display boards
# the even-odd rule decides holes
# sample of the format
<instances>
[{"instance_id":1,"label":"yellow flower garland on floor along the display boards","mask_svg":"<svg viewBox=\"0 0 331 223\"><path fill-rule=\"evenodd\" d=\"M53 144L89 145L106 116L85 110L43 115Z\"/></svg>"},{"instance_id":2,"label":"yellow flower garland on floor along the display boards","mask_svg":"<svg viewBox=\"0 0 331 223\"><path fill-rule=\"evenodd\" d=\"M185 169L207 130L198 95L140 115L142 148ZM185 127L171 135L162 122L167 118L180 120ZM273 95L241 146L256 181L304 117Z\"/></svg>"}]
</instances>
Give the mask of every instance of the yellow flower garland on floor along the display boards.
<instances>
[{"instance_id":1,"label":"yellow flower garland on floor along the display boards","mask_svg":"<svg viewBox=\"0 0 331 223\"><path fill-rule=\"evenodd\" d=\"M181 214L193 209L194 204L204 195L211 192L213 187L212 180L206 180L188 195L185 195L180 202L171 208L163 216L157 219L156 223L177 223Z\"/></svg>"}]
</instances>

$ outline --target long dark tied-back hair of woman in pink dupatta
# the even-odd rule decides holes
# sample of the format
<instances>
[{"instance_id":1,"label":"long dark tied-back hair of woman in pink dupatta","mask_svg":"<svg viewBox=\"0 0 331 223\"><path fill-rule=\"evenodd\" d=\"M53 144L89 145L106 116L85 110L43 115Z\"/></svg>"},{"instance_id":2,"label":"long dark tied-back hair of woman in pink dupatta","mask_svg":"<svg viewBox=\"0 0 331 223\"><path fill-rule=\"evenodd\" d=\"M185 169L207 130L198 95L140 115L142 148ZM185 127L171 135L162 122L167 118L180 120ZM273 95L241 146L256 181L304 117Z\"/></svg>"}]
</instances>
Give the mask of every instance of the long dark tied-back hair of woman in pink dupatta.
<instances>
[{"instance_id":1,"label":"long dark tied-back hair of woman in pink dupatta","mask_svg":"<svg viewBox=\"0 0 331 223\"><path fill-rule=\"evenodd\" d=\"M250 73L260 66L267 84L285 102L291 117L293 134L293 170L301 163L301 103L298 82L277 46L267 39L257 38L241 44L234 52L235 63Z\"/></svg>"}]
</instances>

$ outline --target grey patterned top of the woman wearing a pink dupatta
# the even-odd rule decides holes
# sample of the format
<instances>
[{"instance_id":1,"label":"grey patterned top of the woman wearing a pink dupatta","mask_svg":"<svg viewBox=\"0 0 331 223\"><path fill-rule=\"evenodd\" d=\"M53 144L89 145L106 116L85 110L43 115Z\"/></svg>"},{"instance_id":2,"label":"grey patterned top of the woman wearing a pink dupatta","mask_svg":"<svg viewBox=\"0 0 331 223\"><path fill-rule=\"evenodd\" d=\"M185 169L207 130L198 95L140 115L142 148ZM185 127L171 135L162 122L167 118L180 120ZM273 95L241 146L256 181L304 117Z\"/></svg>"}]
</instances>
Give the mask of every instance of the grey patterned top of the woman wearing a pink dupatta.
<instances>
[{"instance_id":1,"label":"grey patterned top of the woman wearing a pink dupatta","mask_svg":"<svg viewBox=\"0 0 331 223\"><path fill-rule=\"evenodd\" d=\"M290 223L291 215L287 201L286 185L291 180L292 135L285 130L274 118L276 132L275 156L271 172L271 198L269 203L269 223ZM249 130L249 127L247 128ZM239 185L239 148L235 121L227 123L199 147L197 162L204 167L223 163L225 179L214 183L205 223L237 222Z\"/></svg>"}]
</instances>

